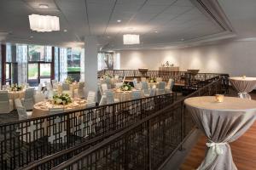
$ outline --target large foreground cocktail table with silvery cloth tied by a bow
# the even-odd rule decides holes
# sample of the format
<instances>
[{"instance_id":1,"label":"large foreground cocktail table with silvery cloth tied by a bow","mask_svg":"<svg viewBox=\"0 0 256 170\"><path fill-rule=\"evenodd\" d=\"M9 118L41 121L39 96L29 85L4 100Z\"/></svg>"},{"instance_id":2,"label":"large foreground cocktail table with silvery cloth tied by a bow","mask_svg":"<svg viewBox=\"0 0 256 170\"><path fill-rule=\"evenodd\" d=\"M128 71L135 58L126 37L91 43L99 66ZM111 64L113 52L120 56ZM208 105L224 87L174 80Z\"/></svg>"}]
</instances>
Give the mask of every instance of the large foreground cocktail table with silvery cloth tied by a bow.
<instances>
[{"instance_id":1,"label":"large foreground cocktail table with silvery cloth tied by a bow","mask_svg":"<svg viewBox=\"0 0 256 170\"><path fill-rule=\"evenodd\" d=\"M253 125L256 101L224 97L224 102L218 103L215 97L204 96L185 99L184 103L195 124L208 138L207 153L198 169L236 170L229 143Z\"/></svg>"}]
</instances>

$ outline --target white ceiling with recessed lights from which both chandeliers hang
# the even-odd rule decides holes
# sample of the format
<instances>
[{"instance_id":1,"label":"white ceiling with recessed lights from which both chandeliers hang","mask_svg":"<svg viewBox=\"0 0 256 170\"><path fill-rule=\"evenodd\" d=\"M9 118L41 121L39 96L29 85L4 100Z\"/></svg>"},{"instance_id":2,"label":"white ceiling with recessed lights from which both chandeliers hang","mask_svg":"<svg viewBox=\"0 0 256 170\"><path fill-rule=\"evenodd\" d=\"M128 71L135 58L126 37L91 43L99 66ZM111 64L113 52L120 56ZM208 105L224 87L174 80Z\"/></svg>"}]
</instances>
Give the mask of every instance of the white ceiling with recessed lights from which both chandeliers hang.
<instances>
[{"instance_id":1,"label":"white ceiling with recessed lights from which both chandeliers hang","mask_svg":"<svg viewBox=\"0 0 256 170\"><path fill-rule=\"evenodd\" d=\"M239 2L221 1L224 6ZM40 3L49 8L38 8ZM61 31L31 31L29 14L59 16ZM140 34L146 46L189 41L224 31L189 0L1 0L0 23L0 32L9 33L6 42L76 46L83 44L84 36L92 35L98 38L99 45L108 48L125 48L124 33Z\"/></svg>"}]
</instances>

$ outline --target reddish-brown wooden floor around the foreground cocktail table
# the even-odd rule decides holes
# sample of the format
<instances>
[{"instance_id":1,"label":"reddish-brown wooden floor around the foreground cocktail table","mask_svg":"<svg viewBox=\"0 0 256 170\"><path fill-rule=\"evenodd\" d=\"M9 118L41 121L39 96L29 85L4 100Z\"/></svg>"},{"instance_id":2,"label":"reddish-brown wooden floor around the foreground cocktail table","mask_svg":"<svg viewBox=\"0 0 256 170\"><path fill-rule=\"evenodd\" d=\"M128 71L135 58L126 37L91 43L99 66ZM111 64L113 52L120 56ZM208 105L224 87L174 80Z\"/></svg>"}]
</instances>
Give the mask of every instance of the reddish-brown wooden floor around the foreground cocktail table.
<instances>
[{"instance_id":1,"label":"reddish-brown wooden floor around the foreground cocktail table","mask_svg":"<svg viewBox=\"0 0 256 170\"><path fill-rule=\"evenodd\" d=\"M256 95L252 95L256 99ZM197 144L190 151L180 170L193 170L199 167L206 150L205 136L201 136ZM256 122L241 138L230 143L233 160L238 170L256 170ZM220 169L221 170L221 169Z\"/></svg>"}]
</instances>

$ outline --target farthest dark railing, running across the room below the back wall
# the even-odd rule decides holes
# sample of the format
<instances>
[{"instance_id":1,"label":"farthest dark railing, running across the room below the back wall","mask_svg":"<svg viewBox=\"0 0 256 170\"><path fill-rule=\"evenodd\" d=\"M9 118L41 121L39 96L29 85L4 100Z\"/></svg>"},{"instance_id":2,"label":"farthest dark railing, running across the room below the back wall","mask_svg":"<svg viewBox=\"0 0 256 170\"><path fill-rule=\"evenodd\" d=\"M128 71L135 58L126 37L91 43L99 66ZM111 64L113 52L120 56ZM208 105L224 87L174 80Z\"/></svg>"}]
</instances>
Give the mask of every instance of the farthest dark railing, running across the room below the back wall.
<instances>
[{"instance_id":1,"label":"farthest dark railing, running across the room below the back wall","mask_svg":"<svg viewBox=\"0 0 256 170\"><path fill-rule=\"evenodd\" d=\"M184 88L201 88L198 85L214 77L229 77L228 74L219 73L197 73L188 71L147 71L145 73L138 70L102 70L98 71L98 77L104 75L119 77L161 77L163 81L168 82L172 78L176 84L183 85ZM226 79L225 79L226 80Z\"/></svg>"}]
</instances>

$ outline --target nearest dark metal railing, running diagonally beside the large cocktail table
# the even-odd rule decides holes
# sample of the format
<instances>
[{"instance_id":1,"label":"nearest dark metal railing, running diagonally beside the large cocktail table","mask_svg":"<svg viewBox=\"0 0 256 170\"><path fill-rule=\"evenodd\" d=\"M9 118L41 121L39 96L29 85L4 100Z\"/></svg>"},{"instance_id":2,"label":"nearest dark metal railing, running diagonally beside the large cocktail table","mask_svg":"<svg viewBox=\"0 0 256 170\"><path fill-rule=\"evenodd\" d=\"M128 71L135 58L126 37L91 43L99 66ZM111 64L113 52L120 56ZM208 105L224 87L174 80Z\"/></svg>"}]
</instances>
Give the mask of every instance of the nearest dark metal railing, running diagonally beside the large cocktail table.
<instances>
[{"instance_id":1,"label":"nearest dark metal railing, running diagonally beside the large cocktail table","mask_svg":"<svg viewBox=\"0 0 256 170\"><path fill-rule=\"evenodd\" d=\"M219 77L195 93L155 111L93 147L88 148L83 143L77 148L34 162L24 169L160 169L195 129L185 109L184 99L222 94L225 90L223 82L223 77ZM79 150L79 153L74 153L75 150ZM66 161L63 157L69 159Z\"/></svg>"}]
</instances>

